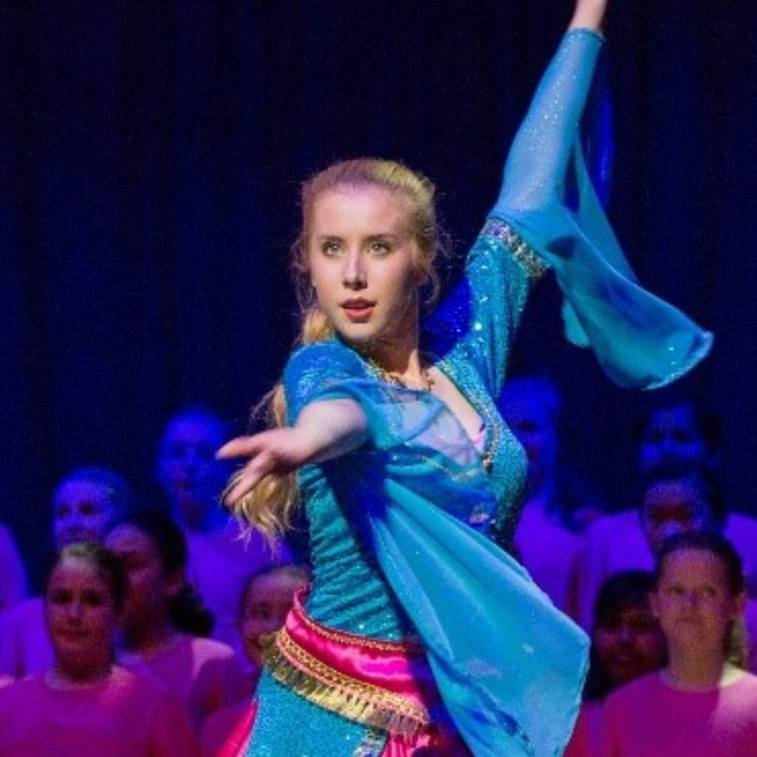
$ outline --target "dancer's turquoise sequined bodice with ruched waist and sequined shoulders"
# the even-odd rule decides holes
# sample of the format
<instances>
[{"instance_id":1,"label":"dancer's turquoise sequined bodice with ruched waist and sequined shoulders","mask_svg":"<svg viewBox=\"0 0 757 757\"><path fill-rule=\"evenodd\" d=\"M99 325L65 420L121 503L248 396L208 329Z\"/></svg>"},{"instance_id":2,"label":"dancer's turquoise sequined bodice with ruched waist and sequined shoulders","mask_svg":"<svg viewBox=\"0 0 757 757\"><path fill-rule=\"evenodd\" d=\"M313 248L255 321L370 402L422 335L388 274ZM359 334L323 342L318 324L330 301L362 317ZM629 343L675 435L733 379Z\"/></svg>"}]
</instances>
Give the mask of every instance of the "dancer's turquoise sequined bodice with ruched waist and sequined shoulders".
<instances>
[{"instance_id":1,"label":"dancer's turquoise sequined bodice with ruched waist and sequined shoulders","mask_svg":"<svg viewBox=\"0 0 757 757\"><path fill-rule=\"evenodd\" d=\"M325 625L390 639L413 632L375 563L364 522L366 502L383 496L382 477L412 475L414 494L420 491L419 496L454 509L461 495L439 494L450 486L450 460L456 456L459 466L470 470L461 474L467 476L466 503L453 515L481 530L495 522L499 531L514 524L525 455L492 397L503 382L503 356L530 282L503 241L482 235L469 255L465 279L422 337L424 350L438 357L438 369L481 416L483 454L436 397L382 385L372 367L337 339L293 356L285 374L292 414L313 397L349 396L368 408L372 426L366 449L310 466L300 478L313 561L308 611ZM387 403L394 403L393 413L385 412ZM429 453L429 448L441 451Z\"/></svg>"}]
</instances>

